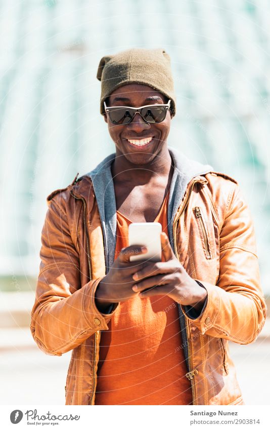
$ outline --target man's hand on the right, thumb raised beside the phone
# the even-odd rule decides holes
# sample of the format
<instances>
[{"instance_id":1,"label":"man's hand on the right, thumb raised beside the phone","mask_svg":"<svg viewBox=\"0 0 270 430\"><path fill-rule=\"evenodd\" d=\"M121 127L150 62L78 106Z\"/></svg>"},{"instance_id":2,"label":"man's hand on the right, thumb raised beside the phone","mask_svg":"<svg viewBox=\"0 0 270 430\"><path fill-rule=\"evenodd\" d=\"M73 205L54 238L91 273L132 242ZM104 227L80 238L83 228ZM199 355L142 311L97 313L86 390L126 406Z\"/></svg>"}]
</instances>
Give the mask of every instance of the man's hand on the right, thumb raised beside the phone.
<instances>
[{"instance_id":1,"label":"man's hand on the right, thumb raised beside the phone","mask_svg":"<svg viewBox=\"0 0 270 430\"><path fill-rule=\"evenodd\" d=\"M139 292L141 297L168 295L177 303L191 305L200 311L207 291L188 275L175 257L164 232L161 233L161 246L165 261L142 263L143 268L133 274L136 285L132 286L132 290Z\"/></svg>"}]
</instances>

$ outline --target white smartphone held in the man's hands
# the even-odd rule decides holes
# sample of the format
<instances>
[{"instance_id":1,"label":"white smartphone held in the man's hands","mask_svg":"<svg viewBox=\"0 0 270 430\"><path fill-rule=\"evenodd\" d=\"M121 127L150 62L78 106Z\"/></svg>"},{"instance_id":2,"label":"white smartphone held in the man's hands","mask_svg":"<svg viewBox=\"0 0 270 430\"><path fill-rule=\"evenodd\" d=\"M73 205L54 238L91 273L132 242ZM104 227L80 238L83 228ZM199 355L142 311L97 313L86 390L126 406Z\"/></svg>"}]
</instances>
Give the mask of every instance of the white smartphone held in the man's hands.
<instances>
[{"instance_id":1,"label":"white smartphone held in the man's hands","mask_svg":"<svg viewBox=\"0 0 270 430\"><path fill-rule=\"evenodd\" d=\"M131 255L129 261L161 261L162 231L159 222L132 222L128 226L128 245L144 245L146 254Z\"/></svg>"}]
</instances>

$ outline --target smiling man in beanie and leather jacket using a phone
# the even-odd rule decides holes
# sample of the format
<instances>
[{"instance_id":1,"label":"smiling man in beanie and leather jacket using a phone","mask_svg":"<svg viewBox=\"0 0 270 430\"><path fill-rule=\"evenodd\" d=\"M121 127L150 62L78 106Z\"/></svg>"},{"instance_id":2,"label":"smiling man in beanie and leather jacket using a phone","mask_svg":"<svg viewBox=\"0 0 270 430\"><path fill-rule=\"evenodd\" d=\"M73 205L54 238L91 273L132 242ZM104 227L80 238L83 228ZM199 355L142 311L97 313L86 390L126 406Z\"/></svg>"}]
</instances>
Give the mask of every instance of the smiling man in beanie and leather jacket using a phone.
<instances>
[{"instance_id":1,"label":"smiling man in beanie and leather jacket using a phone","mask_svg":"<svg viewBox=\"0 0 270 430\"><path fill-rule=\"evenodd\" d=\"M67 405L242 405L228 340L255 341L266 306L239 185L167 146L164 50L103 57L97 77L116 150L47 198L33 338L73 350ZM153 221L162 261L130 262L146 250L128 225Z\"/></svg>"}]
</instances>

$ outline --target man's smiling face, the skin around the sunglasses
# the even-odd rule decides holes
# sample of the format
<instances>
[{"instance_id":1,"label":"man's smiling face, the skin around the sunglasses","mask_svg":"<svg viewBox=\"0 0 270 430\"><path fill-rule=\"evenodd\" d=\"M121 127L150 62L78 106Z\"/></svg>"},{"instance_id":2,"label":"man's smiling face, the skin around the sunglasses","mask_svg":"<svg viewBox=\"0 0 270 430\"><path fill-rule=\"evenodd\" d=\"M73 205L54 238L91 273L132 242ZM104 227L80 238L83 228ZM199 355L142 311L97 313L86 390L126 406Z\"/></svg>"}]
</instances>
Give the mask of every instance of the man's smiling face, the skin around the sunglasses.
<instances>
[{"instance_id":1,"label":"man's smiling face, the skin around the sunglasses","mask_svg":"<svg viewBox=\"0 0 270 430\"><path fill-rule=\"evenodd\" d=\"M113 91L106 101L107 106L140 107L148 104L165 104L167 99L152 87L140 84L123 85ZM104 115L112 140L116 146L116 154L123 154L131 163L144 165L151 163L156 155L167 145L170 130L171 113L168 110L164 121L158 124L146 123L137 112L133 120L124 125L113 124L108 114ZM140 146L132 140L148 140ZM131 140L131 142L130 142ZM138 142L137 142L138 143Z\"/></svg>"}]
</instances>

